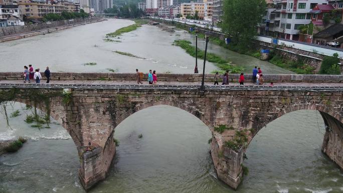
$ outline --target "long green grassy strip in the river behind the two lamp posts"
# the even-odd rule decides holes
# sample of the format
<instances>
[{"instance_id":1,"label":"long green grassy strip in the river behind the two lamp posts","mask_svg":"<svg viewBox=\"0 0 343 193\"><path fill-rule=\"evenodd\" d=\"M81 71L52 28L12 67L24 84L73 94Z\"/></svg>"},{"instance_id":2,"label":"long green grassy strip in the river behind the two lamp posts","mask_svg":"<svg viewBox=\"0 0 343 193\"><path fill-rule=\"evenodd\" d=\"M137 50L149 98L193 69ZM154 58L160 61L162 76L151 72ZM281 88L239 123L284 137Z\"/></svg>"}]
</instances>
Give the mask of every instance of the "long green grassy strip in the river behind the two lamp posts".
<instances>
[{"instance_id":1,"label":"long green grassy strip in the river behind the two lamp posts","mask_svg":"<svg viewBox=\"0 0 343 193\"><path fill-rule=\"evenodd\" d=\"M175 46L179 46L182 49L184 49L189 55L195 57L196 56L196 47L192 46L192 43L190 41L186 40L176 40L174 41ZM198 49L198 58L204 59L205 57L205 51ZM240 73L243 71L243 68L237 67L234 65L229 64L230 61L216 55L213 53L207 53L206 60L209 62L215 63L215 65L223 71L230 71L230 73ZM213 71L212 73L214 73Z\"/></svg>"}]
</instances>

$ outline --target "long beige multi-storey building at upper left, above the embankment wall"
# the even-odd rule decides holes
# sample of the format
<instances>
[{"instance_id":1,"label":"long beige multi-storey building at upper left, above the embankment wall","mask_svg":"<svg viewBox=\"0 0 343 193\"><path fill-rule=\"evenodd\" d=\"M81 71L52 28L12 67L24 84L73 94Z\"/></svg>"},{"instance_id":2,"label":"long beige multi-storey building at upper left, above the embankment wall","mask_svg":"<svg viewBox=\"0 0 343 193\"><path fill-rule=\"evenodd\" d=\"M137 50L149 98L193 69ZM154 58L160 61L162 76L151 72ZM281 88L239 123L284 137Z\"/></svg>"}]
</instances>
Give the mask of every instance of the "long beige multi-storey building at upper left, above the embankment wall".
<instances>
[{"instance_id":1,"label":"long beige multi-storey building at upper left, above the embankment wall","mask_svg":"<svg viewBox=\"0 0 343 193\"><path fill-rule=\"evenodd\" d=\"M62 12L80 12L80 5L70 2L38 2L34 0L19 0L18 6L26 20L43 19L47 14Z\"/></svg>"}]
</instances>

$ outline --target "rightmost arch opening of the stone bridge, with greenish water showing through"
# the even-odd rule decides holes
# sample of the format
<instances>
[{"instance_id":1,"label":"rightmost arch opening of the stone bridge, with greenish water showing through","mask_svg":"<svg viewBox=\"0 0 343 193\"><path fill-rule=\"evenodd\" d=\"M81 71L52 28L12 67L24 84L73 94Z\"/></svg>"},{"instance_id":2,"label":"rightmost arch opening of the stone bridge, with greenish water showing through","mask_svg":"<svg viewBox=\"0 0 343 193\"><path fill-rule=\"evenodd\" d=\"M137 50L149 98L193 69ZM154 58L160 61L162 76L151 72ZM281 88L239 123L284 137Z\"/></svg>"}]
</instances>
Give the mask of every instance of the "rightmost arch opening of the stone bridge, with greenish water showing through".
<instances>
[{"instance_id":1,"label":"rightmost arch opening of the stone bridge, with greenish water showing through","mask_svg":"<svg viewBox=\"0 0 343 193\"><path fill-rule=\"evenodd\" d=\"M269 186L279 192L341 190L339 163L323 150L328 128L338 129L340 124L314 110L292 111L269 122L249 141L244 160L249 174L242 186L249 184L261 191Z\"/></svg>"}]
</instances>

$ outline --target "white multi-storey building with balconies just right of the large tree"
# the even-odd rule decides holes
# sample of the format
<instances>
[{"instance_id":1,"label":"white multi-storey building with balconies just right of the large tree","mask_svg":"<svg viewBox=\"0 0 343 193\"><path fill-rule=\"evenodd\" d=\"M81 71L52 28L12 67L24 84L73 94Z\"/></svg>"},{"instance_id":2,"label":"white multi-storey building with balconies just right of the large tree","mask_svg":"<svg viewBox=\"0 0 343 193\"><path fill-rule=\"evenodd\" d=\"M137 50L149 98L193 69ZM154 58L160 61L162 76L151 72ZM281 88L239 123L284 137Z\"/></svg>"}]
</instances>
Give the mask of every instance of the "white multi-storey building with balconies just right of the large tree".
<instances>
[{"instance_id":1,"label":"white multi-storey building with balconies just right of the large tree","mask_svg":"<svg viewBox=\"0 0 343 193\"><path fill-rule=\"evenodd\" d=\"M299 40L298 28L311 22L311 10L326 0L275 0L267 11L265 33L269 36Z\"/></svg>"}]
</instances>

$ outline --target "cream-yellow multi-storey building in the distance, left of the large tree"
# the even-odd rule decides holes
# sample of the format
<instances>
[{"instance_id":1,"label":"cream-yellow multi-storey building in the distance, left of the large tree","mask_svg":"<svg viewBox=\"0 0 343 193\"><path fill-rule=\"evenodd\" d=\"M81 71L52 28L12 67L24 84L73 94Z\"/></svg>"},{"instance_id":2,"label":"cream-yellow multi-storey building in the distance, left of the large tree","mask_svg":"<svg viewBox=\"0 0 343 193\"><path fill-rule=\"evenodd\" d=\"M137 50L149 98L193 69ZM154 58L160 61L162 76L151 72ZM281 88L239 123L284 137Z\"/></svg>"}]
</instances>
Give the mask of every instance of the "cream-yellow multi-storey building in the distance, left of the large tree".
<instances>
[{"instance_id":1,"label":"cream-yellow multi-storey building in the distance, left of the large tree","mask_svg":"<svg viewBox=\"0 0 343 193\"><path fill-rule=\"evenodd\" d=\"M187 16L194 16L196 12L198 12L198 16L200 20L204 20L206 17L206 20L212 21L213 16L213 2L207 2L207 0L204 0L204 2L191 2L191 3L183 3L180 5L181 8L181 15L183 18L186 18ZM206 7L206 14L205 14L205 7Z\"/></svg>"}]
</instances>

